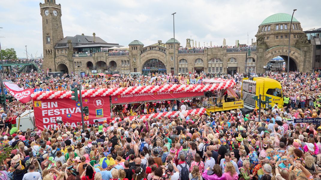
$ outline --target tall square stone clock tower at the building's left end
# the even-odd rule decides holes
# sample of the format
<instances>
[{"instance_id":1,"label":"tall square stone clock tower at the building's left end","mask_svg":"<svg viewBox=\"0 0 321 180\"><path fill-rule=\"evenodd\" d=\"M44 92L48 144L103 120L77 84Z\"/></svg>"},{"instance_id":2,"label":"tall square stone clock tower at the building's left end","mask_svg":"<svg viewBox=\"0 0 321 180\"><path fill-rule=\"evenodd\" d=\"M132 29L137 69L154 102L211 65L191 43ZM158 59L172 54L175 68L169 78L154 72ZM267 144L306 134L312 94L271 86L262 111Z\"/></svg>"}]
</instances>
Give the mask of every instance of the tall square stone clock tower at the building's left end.
<instances>
[{"instance_id":1,"label":"tall square stone clock tower at the building's left end","mask_svg":"<svg viewBox=\"0 0 321 180\"><path fill-rule=\"evenodd\" d=\"M64 38L61 24L61 5L56 0L44 0L40 3L42 17L43 70L55 71L56 44Z\"/></svg>"}]
</instances>

